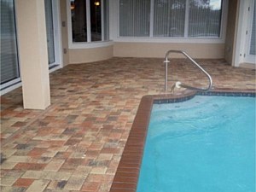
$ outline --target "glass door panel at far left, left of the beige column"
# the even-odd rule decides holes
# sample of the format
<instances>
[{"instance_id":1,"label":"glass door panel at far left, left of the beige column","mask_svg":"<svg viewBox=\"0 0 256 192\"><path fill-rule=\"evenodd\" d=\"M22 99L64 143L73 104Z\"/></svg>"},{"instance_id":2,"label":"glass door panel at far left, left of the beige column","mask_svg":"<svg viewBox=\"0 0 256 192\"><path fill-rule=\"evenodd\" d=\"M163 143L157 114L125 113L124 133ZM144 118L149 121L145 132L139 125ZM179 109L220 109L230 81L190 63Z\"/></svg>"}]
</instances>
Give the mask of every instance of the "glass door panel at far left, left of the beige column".
<instances>
[{"instance_id":1,"label":"glass door panel at far left, left of the beige column","mask_svg":"<svg viewBox=\"0 0 256 192\"><path fill-rule=\"evenodd\" d=\"M20 81L18 48L15 29L15 3L1 0L1 90L4 84Z\"/></svg>"}]
</instances>

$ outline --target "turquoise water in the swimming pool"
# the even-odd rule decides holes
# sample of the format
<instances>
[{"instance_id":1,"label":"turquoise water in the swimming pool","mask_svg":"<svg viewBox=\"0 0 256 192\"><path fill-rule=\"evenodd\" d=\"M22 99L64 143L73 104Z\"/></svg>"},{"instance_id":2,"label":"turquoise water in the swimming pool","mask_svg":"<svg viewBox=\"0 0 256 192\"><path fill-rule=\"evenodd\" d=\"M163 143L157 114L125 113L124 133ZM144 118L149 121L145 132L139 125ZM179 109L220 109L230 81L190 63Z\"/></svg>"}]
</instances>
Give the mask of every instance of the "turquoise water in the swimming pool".
<instances>
[{"instance_id":1,"label":"turquoise water in the swimming pool","mask_svg":"<svg viewBox=\"0 0 256 192\"><path fill-rule=\"evenodd\" d=\"M154 104L137 192L254 192L255 97Z\"/></svg>"}]
</instances>

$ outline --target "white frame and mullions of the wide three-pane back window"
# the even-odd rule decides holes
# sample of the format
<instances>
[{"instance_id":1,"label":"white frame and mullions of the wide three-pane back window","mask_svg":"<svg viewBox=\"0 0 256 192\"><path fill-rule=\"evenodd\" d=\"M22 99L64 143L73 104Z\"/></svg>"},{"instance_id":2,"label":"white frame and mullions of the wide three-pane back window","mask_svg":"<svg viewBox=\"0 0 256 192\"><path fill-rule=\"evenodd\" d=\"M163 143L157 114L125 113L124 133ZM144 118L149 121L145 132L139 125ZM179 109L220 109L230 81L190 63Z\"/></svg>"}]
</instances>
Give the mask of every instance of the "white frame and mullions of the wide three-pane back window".
<instances>
[{"instance_id":1,"label":"white frame and mullions of the wide three-pane back window","mask_svg":"<svg viewBox=\"0 0 256 192\"><path fill-rule=\"evenodd\" d=\"M151 0L150 8L150 32L149 37L121 37L119 35L119 0L116 0L118 3L117 15L117 37L113 39L116 42L138 42L138 43L193 43L193 44L224 44L225 42L225 33L226 33L226 23L228 15L228 3L229 0L223 0L222 13L221 13L221 26L220 26L220 36L219 37L189 37L188 36L188 27L189 27L189 6L186 6L185 14L185 28L184 28L184 37L154 37L154 0ZM186 0L186 4L189 3L189 0Z\"/></svg>"}]
</instances>

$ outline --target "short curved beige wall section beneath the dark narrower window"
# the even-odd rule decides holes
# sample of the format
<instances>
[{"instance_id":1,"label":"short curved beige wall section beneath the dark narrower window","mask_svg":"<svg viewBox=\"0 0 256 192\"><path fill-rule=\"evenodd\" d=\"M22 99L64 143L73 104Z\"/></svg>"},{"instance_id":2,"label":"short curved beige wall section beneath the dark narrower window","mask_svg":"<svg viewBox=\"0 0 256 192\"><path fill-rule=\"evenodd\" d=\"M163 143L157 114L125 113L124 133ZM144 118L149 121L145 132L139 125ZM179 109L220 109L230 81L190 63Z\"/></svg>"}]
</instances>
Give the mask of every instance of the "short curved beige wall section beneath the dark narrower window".
<instances>
[{"instance_id":1,"label":"short curved beige wall section beneath the dark narrower window","mask_svg":"<svg viewBox=\"0 0 256 192\"><path fill-rule=\"evenodd\" d=\"M70 64L108 60L111 57L113 57L113 45L90 49L69 49Z\"/></svg>"}]
</instances>

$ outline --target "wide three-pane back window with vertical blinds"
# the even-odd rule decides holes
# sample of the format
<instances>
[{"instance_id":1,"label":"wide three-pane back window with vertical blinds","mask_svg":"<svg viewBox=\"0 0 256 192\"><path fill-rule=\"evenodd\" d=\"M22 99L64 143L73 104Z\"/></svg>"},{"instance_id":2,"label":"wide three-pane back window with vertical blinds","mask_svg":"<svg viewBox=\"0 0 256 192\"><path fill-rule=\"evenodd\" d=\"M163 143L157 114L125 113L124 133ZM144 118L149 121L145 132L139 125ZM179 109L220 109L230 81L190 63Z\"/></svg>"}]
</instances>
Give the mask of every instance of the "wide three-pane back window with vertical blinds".
<instances>
[{"instance_id":1,"label":"wide three-pane back window with vertical blinds","mask_svg":"<svg viewBox=\"0 0 256 192\"><path fill-rule=\"evenodd\" d=\"M119 0L119 37L219 38L222 0Z\"/></svg>"}]
</instances>

